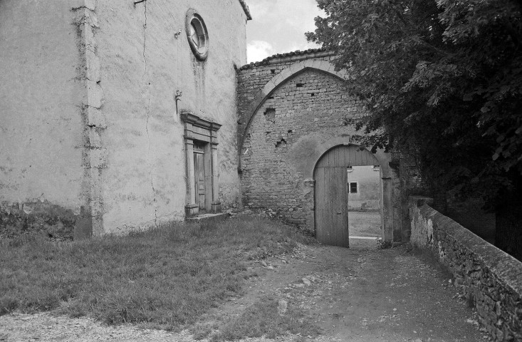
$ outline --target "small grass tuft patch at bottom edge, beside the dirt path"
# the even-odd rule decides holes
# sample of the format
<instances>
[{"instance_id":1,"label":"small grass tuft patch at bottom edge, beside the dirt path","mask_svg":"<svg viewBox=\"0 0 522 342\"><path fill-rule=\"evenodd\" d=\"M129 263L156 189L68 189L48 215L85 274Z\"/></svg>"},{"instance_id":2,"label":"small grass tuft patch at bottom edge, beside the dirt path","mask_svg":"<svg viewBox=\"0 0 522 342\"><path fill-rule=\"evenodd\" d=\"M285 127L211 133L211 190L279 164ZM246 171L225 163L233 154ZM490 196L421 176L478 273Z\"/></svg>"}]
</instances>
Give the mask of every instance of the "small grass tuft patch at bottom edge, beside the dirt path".
<instances>
[{"instance_id":1,"label":"small grass tuft patch at bottom edge, beside the dirt path","mask_svg":"<svg viewBox=\"0 0 522 342\"><path fill-rule=\"evenodd\" d=\"M246 308L239 316L224 323L224 326L212 335L210 341L236 341L261 336L276 338L288 333L318 336L320 328L303 314L303 310L294 308L291 303L288 304L286 312L279 312L278 300L273 296L266 296Z\"/></svg>"}]
</instances>

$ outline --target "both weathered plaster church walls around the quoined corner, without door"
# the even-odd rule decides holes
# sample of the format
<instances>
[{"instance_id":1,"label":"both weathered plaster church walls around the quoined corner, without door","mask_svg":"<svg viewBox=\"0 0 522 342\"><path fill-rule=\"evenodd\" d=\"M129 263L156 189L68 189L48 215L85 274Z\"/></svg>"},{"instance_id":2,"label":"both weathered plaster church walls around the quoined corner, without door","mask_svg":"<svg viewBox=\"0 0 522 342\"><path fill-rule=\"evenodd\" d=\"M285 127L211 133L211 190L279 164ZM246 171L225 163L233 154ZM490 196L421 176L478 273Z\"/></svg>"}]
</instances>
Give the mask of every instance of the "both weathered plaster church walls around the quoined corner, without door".
<instances>
[{"instance_id":1,"label":"both weathered plaster church walls around the quoined corner, without door","mask_svg":"<svg viewBox=\"0 0 522 342\"><path fill-rule=\"evenodd\" d=\"M221 125L218 196L237 204L244 6L0 1L0 230L87 237L183 219L182 110ZM189 9L209 31L204 62L187 41Z\"/></svg>"}]
</instances>

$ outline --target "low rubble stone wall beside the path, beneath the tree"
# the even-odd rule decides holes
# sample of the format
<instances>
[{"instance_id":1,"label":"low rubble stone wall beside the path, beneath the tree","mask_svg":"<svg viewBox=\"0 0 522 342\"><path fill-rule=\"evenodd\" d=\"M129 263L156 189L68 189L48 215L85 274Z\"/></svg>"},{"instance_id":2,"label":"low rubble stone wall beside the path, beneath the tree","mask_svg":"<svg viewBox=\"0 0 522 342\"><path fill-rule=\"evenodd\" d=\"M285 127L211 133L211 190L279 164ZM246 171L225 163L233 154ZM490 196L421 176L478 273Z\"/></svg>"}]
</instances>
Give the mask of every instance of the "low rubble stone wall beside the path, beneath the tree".
<instances>
[{"instance_id":1,"label":"low rubble stone wall beside the path, beneath the tree","mask_svg":"<svg viewBox=\"0 0 522 342\"><path fill-rule=\"evenodd\" d=\"M409 198L411 243L432 249L473 302L495 341L522 341L522 262L429 207L427 197Z\"/></svg>"}]
</instances>

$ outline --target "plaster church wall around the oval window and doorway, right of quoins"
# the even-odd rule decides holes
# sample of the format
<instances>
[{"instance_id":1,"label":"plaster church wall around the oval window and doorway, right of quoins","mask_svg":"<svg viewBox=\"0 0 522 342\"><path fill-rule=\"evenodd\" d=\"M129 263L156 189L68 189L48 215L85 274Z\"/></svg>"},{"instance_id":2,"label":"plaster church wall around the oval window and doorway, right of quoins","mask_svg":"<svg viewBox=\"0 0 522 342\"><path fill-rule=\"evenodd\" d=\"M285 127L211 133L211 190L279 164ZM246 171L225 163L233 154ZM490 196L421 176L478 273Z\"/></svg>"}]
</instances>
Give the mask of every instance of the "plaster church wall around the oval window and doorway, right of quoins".
<instances>
[{"instance_id":1,"label":"plaster church wall around the oval window and doorway, right of quoins","mask_svg":"<svg viewBox=\"0 0 522 342\"><path fill-rule=\"evenodd\" d=\"M195 9L209 31L209 56L189 48L185 14ZM179 111L222 125L219 184L224 207L239 201L235 67L246 62L246 14L239 1L98 1L100 133L105 232L122 232L184 217L184 126ZM179 33L179 34L177 34Z\"/></svg>"}]
</instances>

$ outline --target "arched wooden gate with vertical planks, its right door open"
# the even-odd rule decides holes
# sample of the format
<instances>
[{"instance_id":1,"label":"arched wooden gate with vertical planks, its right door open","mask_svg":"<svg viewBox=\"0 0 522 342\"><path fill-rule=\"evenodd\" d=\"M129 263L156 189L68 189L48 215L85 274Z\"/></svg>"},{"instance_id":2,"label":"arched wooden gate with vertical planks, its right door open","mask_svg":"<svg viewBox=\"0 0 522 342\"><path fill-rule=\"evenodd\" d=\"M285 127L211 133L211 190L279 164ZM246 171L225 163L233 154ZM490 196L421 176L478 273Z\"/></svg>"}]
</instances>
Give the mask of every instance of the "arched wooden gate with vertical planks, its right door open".
<instances>
[{"instance_id":1,"label":"arched wooden gate with vertical planks, its right door open","mask_svg":"<svg viewBox=\"0 0 522 342\"><path fill-rule=\"evenodd\" d=\"M368 150L341 145L326 152L314 170L315 237L323 244L349 247L348 166L377 165Z\"/></svg>"}]
</instances>

